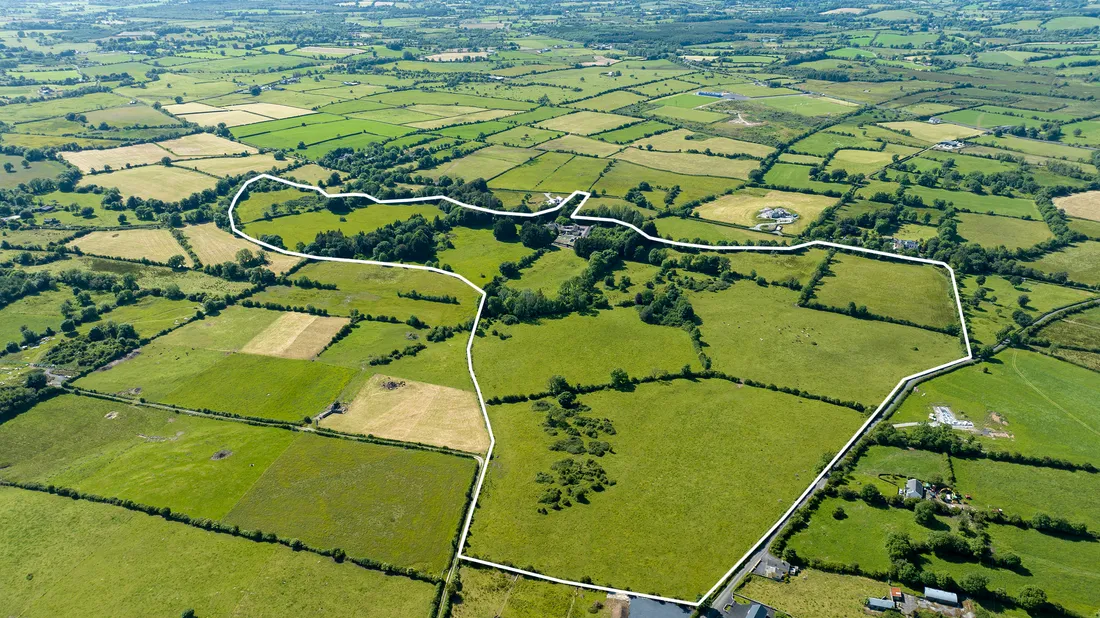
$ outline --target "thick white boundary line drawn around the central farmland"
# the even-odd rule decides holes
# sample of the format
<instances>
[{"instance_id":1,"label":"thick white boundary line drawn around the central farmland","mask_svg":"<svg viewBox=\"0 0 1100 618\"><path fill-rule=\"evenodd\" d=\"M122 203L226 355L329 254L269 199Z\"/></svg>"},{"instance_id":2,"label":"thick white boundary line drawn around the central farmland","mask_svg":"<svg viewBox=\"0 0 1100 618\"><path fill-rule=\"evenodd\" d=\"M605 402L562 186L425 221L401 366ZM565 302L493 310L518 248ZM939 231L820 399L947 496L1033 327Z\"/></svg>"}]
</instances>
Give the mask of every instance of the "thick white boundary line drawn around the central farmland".
<instances>
[{"instance_id":1,"label":"thick white boundary line drawn around the central farmland","mask_svg":"<svg viewBox=\"0 0 1100 618\"><path fill-rule=\"evenodd\" d=\"M477 498L481 497L482 487L483 487L484 482L485 482L485 474L488 472L488 462L490 462L490 460L493 456L493 449L496 446L496 437L493 434L493 426L490 423L490 420L488 420L488 410L486 410L486 408L485 408L485 398L482 396L481 385L477 383L477 376L474 374L474 357L473 357L474 336L476 335L476 332L477 332L477 325L481 323L482 312L485 309L485 298L487 296L485 294L485 290L482 289L482 288L480 288L480 287L477 287L474 283L472 283L470 279L463 277L462 275L460 275L458 273L452 273L450 271L443 271L442 268L436 268L436 267L432 267L432 266L421 266L419 264L400 264L400 263L396 263L396 262L378 262L378 261L374 261L374 260L353 260L353 258L350 258L350 257L327 257L327 256L320 256L320 255L310 255L310 254L307 254L307 253L299 253L299 252L296 252L296 251L288 251L288 250L285 250L285 249L280 249L280 247L277 247L277 246L272 245L270 243L265 243L263 241L260 241L257 239L254 239L254 238L245 234L243 231L241 231L241 230L239 230L237 228L237 223L233 221L233 209L237 208L237 202L241 199L241 196L244 195L244 191L249 188L250 185L252 185L253 183L256 183L258 180L265 180L265 179L266 180L273 180L275 183L280 183L283 185L287 185L287 186L295 187L295 188L298 188L298 189L304 189L304 190L309 190L309 191L316 191L316 192L320 194L321 196L323 196L326 198L348 198L348 197L354 197L354 198L363 198L363 199L370 200L370 201L372 201L374 203L416 203L416 202L426 202L426 201L446 201L448 203L452 203L454 206L459 206L459 207L462 207L462 208L469 208L471 210L476 210L479 212L487 212L490 214L499 214L499 216L506 216L506 217L521 217L521 218L528 218L528 219L535 218L535 217L539 217L541 214L549 214L551 212L556 212L558 210L561 210L574 197L576 197L576 196L584 196L581 199L581 202L576 206L576 208L573 209L573 212L571 212L569 214L570 219L576 219L579 221L595 221L595 222L601 222L601 223L613 223L613 224L616 224L616 225L624 225L624 227L629 228L629 229L634 230L635 232L641 234L642 238L645 238L645 239L647 239L649 241L658 242L658 243L662 243L662 244L668 244L668 245L671 245L671 246L682 246L682 247L688 247L688 249L700 249L700 250L707 250L707 251L771 251L771 252L795 252L795 251L801 251L803 249L807 249L807 247L811 247L811 246L828 246L828 247L834 247L834 249L842 250L842 251L849 251L849 252L854 252L854 253L867 253L867 254L870 254L870 255L878 255L878 256L888 257L888 258L891 258L891 260L900 260L902 262L917 262L917 263L921 263L921 264L930 264L930 265L933 265L933 266L939 266L939 267L946 268L947 272L950 274L950 277L952 277L952 289L955 293L955 305L958 308L958 313L959 313L959 328L961 329L961 332L963 332L963 341L966 343L966 353L967 353L967 355L965 357L963 357L963 358L958 358L958 360L952 361L949 363L944 363L943 365L938 365L936 367L932 367L931 369L925 369L923 372L919 372L919 373L915 373L913 375L905 376L905 377L901 378L901 380L898 383L898 385L893 387L893 390L890 391L890 395L888 395L887 398L883 399L881 404L879 404L879 407L875 409L875 412L871 413L867 418L867 421L856 431L856 433L851 437L851 439L848 440L848 442L837 452L837 454L833 457L833 461L831 461L828 463L828 465L825 466L825 468L821 472L821 474L818 474L813 479L813 482L810 483L810 486L806 487L806 490L803 492L802 495L799 496L799 498L792 504L791 508L788 509L787 512L784 512L783 516L771 528L769 528L768 531L765 532L762 537L760 537L760 540L758 540L756 543L752 544L751 548L749 548L749 550L745 553L745 555L743 555L737 561L737 563L735 563L729 569L729 571L727 571L726 574L723 575L722 578L719 578L718 582L715 583L714 586L710 591L707 591L706 594L704 594L701 597L701 599L706 599L707 597L710 597L711 595L713 595L719 587L722 587L722 584L727 578L729 578L729 576L733 575L745 563L746 560L748 560L752 554L755 554L757 551L759 551L760 547L763 545L763 543L768 540L768 538L771 537L781 526L783 526L787 522L788 518L791 517L791 514L793 514L796 510L796 508L799 507L799 505L801 505L802 501L805 500L806 497L811 493L813 493L814 487L816 487L817 484L821 483L822 479L824 479L828 475L828 473L833 470L833 466L835 466L837 464L837 462L839 462L848 453L848 451L859 440L859 438L864 434L864 432L867 431L867 428L870 427L871 423L873 423L876 420L878 420L878 416L882 412L883 409L886 409L886 407L890 404L890 401L898 395L899 390L901 390L904 387L904 385L905 385L906 382L909 382L909 380L911 380L913 378L922 377L922 376L925 376L925 375L938 372L941 369L945 369L947 367L952 367L952 366L955 366L955 365L958 365L958 364L967 363L967 362L974 360L974 352L972 352L972 350L970 347L970 335L967 333L967 330L966 330L966 316L963 312L963 300L961 300L961 297L959 296L959 288L958 288L957 279L955 277L955 271L947 263L939 262L937 260L928 260L928 258L925 258L925 257L910 257L910 256L906 256L906 255L898 255L895 253L888 253L886 251L876 251L876 250L864 249L864 247L859 247L859 246L849 246L849 245L846 245L846 244L839 244L839 243L834 243L834 242L828 242L828 241L810 241L810 242L804 242L804 243L801 243L801 244L789 245L789 246L707 245L707 244L695 244L695 243L685 243L685 242L679 242L679 241L670 241L670 240L666 240L666 239L662 239L662 238L652 236L650 234L647 234L646 232L641 231L639 228L637 228L635 225L631 225L630 223L627 223L625 221L619 221L618 219L612 219L612 218L607 218L607 217L588 217L588 216L578 214L581 211L581 209L584 208L584 203L586 201L588 201L588 198L592 197L592 194L590 194L587 191L573 191L566 198L564 198L558 206L556 206L553 208L546 208L546 209L539 210L538 212L510 212L510 211L506 211L506 210L494 210L494 209L491 209L491 208L484 208L484 207L480 207L480 206L473 206L473 205L469 205L469 203L463 203L463 202L461 202L459 200L455 200L455 199L447 197L447 196L429 196L429 197L416 197L416 198L405 198L405 199L378 199L378 198L375 198L374 196L371 196L369 194L360 194L360 192L330 194L330 192L326 191L324 189L322 189L321 187L315 187L312 185L306 185L306 184L302 184L302 183L295 183L295 181L292 181L292 180L286 180L284 178L279 178L277 176L272 176L270 174L260 174L260 175L253 176L252 178L249 178L248 180L244 181L243 185L241 185L241 188L237 190L237 194L233 196L233 200L229 205L229 225L233 230L233 233L238 234L239 236L241 236L241 238L243 238L243 239L245 239L248 241L251 241L251 242L253 242L253 243L255 243L255 244L257 244L260 246L263 246L264 249L267 249L270 251L274 251L276 253L282 253L284 255L293 255L295 257L301 257L301 258L306 258L306 260L317 260L317 261L322 261L322 262L342 262L342 263L348 263L348 264L367 264L367 265L371 265L371 266L388 266L388 267L394 267L394 268L409 268L409 269L413 269L413 271L428 271L428 272L431 272L431 273L438 273L440 275L446 275L448 277L454 277L455 279L461 280L462 283L464 283L468 286L472 287L473 289L477 290L477 293L481 295L481 300L477 304L477 314L474 317L474 324L473 324L473 328L470 330L470 339L466 341L466 367L470 371L470 378L474 383L474 390L477 391L477 404L481 406L482 417L485 419L485 428L488 430L488 440L490 440L490 443L488 443L488 451L485 452L484 464L481 466L481 473L477 475L477 484L474 487L473 498L470 501L470 510L466 512L465 522L462 526L462 533L459 537L458 558L459 558L459 560L464 560L466 562L472 562L472 563L475 563L475 564L482 564L482 565L485 565L485 566L492 566L492 567L495 567L495 569L499 569L502 571L507 571L507 572L516 573L516 574L519 574L519 575L526 575L528 577L535 577L535 578L539 578L539 580L546 580L548 582L554 582L557 584L566 584L566 585L570 585L570 586L578 586L578 587L593 589L593 591L617 593L617 594L626 594L626 595L636 596L636 597L650 598L650 599L653 599L653 600L660 600L660 602L666 602L666 603L675 603L675 604L679 604L679 605L686 605L686 606L690 606L690 607L698 607L701 605L701 603L702 603L702 600L693 602L693 600L688 600L688 599L662 597L662 596L658 596L658 595L650 595L650 594L637 593L637 592L632 592L632 591L626 591L626 589L619 589L619 588L610 588L610 587L606 587L606 586L597 586L595 584L586 584L586 583L583 583L583 582L573 582L573 581L570 581L570 580L561 580L561 578L558 578L558 577L551 577L549 575L543 575L541 573L534 573L534 572L530 572L530 571L524 571L521 569L516 569L514 566L508 566L506 564L498 564L498 563L495 563L495 562L488 562L488 561L476 559L476 558L473 558L473 556L463 555L462 554L462 550L463 550L463 548L466 544L466 537L470 534L470 525L473 521L474 511L477 509Z\"/></svg>"}]
</instances>

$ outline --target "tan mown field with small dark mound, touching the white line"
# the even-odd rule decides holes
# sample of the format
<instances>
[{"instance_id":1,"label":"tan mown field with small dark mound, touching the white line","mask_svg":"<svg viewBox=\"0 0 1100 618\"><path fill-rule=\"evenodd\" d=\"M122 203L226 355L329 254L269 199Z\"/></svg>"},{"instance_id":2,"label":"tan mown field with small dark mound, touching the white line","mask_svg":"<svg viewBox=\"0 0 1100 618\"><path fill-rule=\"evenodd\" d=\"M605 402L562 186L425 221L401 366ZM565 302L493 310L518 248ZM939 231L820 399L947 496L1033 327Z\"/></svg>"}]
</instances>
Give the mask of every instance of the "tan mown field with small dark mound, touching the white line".
<instances>
[{"instance_id":1,"label":"tan mown field with small dark mound, touching the white line","mask_svg":"<svg viewBox=\"0 0 1100 618\"><path fill-rule=\"evenodd\" d=\"M488 449L485 419L473 393L384 375L373 376L348 411L326 417L321 426L470 453Z\"/></svg>"}]
</instances>

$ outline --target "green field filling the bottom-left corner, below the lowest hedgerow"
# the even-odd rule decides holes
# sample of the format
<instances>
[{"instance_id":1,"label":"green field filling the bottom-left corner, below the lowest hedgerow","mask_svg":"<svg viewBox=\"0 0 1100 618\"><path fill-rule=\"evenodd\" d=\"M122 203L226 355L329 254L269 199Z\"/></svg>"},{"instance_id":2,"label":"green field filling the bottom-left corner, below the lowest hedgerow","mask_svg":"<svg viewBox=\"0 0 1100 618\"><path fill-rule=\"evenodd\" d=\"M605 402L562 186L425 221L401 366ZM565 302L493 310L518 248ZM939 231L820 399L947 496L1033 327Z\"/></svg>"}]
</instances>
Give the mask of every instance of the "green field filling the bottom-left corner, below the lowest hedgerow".
<instances>
[{"instance_id":1,"label":"green field filling the bottom-left corner, below the lowest hedgerow","mask_svg":"<svg viewBox=\"0 0 1100 618\"><path fill-rule=\"evenodd\" d=\"M24 616L418 616L431 584L172 523L0 488L0 605ZM324 582L331 594L317 594Z\"/></svg>"}]
</instances>

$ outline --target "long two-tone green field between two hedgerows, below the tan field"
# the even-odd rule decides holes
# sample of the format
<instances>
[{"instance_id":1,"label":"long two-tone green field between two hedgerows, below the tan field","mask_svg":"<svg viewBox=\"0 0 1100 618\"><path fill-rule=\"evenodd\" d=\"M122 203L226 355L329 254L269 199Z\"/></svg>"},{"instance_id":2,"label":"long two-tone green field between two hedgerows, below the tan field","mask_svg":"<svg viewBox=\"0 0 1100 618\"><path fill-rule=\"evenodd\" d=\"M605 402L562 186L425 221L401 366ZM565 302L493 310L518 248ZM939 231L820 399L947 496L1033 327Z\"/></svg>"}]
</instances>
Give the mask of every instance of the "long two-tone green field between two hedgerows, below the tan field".
<instances>
[{"instance_id":1,"label":"long two-tone green field between two hedgerows, below the tan field","mask_svg":"<svg viewBox=\"0 0 1100 618\"><path fill-rule=\"evenodd\" d=\"M426 573L447 566L473 476L473 462L452 455L69 395L4 423L0 442L7 478L166 506Z\"/></svg>"}]
</instances>

